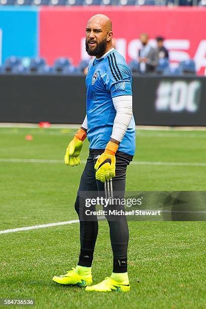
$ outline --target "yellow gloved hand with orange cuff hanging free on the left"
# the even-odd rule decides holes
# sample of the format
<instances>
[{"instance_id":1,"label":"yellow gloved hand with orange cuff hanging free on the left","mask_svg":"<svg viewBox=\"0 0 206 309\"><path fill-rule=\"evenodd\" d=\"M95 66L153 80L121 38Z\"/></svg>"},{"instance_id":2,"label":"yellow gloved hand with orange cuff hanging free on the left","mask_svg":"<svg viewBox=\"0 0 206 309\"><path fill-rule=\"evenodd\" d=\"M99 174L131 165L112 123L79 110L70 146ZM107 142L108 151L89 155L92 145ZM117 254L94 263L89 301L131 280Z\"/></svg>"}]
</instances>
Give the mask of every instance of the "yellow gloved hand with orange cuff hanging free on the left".
<instances>
[{"instance_id":1,"label":"yellow gloved hand with orange cuff hanging free on the left","mask_svg":"<svg viewBox=\"0 0 206 309\"><path fill-rule=\"evenodd\" d=\"M75 134L73 140L69 143L65 153L65 164L70 166L77 166L81 163L80 151L82 149L82 141L86 138L86 132L83 129L79 129Z\"/></svg>"}]
</instances>

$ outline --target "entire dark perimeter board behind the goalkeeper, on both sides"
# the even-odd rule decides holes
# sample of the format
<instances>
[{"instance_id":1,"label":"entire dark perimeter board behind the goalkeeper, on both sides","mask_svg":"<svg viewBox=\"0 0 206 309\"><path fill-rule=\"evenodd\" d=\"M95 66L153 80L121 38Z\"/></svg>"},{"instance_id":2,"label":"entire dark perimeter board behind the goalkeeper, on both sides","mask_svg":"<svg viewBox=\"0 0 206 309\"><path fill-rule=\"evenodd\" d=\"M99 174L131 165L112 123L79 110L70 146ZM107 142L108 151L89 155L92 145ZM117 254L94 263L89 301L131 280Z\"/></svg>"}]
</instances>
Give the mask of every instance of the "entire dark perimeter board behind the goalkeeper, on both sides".
<instances>
[{"instance_id":1,"label":"entire dark perimeter board behind the goalkeeper, on both sides","mask_svg":"<svg viewBox=\"0 0 206 309\"><path fill-rule=\"evenodd\" d=\"M0 75L0 122L81 124L85 97L84 76ZM204 77L133 77L137 125L206 126L205 101Z\"/></svg>"}]
</instances>

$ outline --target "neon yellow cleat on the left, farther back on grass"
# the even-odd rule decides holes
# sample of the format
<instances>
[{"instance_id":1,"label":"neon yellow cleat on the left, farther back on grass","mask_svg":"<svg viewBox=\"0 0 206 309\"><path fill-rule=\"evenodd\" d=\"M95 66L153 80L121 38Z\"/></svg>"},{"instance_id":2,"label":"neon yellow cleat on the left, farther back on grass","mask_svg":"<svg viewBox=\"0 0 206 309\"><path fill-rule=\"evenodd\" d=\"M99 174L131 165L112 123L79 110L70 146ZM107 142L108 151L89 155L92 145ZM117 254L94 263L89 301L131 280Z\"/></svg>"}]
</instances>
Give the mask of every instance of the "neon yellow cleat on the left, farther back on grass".
<instances>
[{"instance_id":1,"label":"neon yellow cleat on the left, farther back on grass","mask_svg":"<svg viewBox=\"0 0 206 309\"><path fill-rule=\"evenodd\" d=\"M79 275L75 271L75 268L72 268L72 270L68 271L68 273L65 275L53 277L52 280L59 284L76 285L79 287L85 287L85 286L92 285L91 274L86 275L86 276Z\"/></svg>"}]
</instances>

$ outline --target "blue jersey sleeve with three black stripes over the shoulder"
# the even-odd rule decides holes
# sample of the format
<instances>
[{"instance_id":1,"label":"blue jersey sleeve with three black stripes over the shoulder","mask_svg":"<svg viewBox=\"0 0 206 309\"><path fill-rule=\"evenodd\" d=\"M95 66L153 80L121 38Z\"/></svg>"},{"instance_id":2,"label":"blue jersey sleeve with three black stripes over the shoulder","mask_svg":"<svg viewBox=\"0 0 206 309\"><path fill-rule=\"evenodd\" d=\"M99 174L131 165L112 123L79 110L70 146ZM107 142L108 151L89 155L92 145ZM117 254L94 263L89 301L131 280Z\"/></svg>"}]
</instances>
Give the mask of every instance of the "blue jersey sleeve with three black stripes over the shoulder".
<instances>
[{"instance_id":1,"label":"blue jersey sleeve with three black stripes over the shoulder","mask_svg":"<svg viewBox=\"0 0 206 309\"><path fill-rule=\"evenodd\" d=\"M106 90L112 97L132 95L131 73L126 63L119 63L115 56L108 57L108 68L102 77Z\"/></svg>"}]
</instances>

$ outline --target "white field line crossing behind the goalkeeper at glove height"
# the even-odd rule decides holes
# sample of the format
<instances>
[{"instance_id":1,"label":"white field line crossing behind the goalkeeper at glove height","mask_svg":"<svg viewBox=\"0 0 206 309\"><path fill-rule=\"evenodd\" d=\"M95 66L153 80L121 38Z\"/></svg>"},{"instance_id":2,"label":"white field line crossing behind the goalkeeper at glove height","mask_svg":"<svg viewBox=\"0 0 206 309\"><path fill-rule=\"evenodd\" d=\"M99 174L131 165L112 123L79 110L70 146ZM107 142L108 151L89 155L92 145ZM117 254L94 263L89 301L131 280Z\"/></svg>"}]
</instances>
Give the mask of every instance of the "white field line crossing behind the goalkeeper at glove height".
<instances>
[{"instance_id":1,"label":"white field line crossing behind the goalkeeper at glove height","mask_svg":"<svg viewBox=\"0 0 206 309\"><path fill-rule=\"evenodd\" d=\"M6 163L47 163L47 164L64 164L64 160L51 159L0 159L0 162ZM86 163L82 160L81 163ZM158 166L206 166L205 162L149 162L149 161L132 161L132 165L158 165Z\"/></svg>"}]
</instances>

